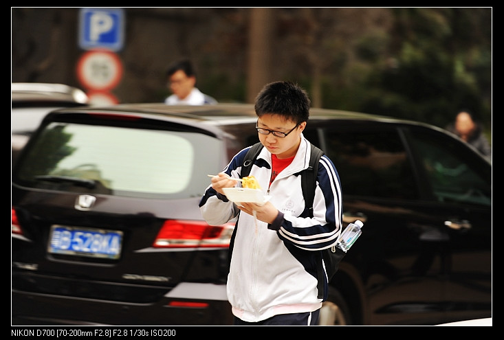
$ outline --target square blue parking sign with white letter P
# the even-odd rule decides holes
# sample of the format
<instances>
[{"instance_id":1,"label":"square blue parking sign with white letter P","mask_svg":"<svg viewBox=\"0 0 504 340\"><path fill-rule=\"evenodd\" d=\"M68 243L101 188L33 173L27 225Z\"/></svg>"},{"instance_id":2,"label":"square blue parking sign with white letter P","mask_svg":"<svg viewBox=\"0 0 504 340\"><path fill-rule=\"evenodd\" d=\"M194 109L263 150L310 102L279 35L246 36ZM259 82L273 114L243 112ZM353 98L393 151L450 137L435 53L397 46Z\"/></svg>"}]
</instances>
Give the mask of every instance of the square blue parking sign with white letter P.
<instances>
[{"instance_id":1,"label":"square blue parking sign with white letter P","mask_svg":"<svg viewBox=\"0 0 504 340\"><path fill-rule=\"evenodd\" d=\"M105 48L113 52L124 43L122 8L81 8L79 46L82 49Z\"/></svg>"}]
</instances>

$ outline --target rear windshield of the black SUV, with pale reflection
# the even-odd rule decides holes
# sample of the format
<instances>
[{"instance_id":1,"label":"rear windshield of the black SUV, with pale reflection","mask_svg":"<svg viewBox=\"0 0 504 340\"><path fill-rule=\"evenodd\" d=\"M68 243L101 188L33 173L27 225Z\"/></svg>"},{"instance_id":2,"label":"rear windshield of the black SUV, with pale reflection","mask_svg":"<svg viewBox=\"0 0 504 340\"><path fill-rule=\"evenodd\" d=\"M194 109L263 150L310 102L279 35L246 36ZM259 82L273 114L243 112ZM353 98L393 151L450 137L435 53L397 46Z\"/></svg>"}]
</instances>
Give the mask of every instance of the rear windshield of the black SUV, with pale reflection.
<instances>
[{"instance_id":1,"label":"rear windshield of the black SUV, with pale reflection","mask_svg":"<svg viewBox=\"0 0 504 340\"><path fill-rule=\"evenodd\" d=\"M30 145L17 179L36 188L188 198L208 185L207 167L219 168L217 150L217 138L190 128L52 122Z\"/></svg>"}]
</instances>

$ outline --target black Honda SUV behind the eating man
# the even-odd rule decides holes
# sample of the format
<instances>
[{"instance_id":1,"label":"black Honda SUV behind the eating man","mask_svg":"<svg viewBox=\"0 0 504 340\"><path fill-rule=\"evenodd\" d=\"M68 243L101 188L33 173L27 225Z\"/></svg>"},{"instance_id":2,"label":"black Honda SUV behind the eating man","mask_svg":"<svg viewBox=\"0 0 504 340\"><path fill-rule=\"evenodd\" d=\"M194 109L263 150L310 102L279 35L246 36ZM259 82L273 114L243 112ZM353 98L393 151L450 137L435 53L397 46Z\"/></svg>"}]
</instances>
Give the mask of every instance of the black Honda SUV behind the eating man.
<instances>
[{"instance_id":1,"label":"black Honda SUV behind the eating man","mask_svg":"<svg viewBox=\"0 0 504 340\"><path fill-rule=\"evenodd\" d=\"M198 203L258 141L252 105L123 104L45 117L12 174L12 324L228 325L232 223ZM305 136L363 234L321 324L492 316L492 166L434 126L312 109Z\"/></svg>"}]
</instances>

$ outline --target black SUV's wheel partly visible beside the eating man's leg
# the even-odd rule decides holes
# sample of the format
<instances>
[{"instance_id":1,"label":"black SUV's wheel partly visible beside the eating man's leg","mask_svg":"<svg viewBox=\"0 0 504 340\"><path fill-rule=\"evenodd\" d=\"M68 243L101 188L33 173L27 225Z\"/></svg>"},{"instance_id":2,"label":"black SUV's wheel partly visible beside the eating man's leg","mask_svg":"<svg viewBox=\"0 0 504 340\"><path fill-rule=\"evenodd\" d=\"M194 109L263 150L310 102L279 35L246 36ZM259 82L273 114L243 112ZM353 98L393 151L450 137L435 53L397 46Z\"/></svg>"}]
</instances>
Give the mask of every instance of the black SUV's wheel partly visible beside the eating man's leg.
<instances>
[{"instance_id":1,"label":"black SUV's wheel partly visible beside the eating man's leg","mask_svg":"<svg viewBox=\"0 0 504 340\"><path fill-rule=\"evenodd\" d=\"M347 302L334 288L329 288L329 297L320 308L319 326L351 325L351 315Z\"/></svg>"}]
</instances>

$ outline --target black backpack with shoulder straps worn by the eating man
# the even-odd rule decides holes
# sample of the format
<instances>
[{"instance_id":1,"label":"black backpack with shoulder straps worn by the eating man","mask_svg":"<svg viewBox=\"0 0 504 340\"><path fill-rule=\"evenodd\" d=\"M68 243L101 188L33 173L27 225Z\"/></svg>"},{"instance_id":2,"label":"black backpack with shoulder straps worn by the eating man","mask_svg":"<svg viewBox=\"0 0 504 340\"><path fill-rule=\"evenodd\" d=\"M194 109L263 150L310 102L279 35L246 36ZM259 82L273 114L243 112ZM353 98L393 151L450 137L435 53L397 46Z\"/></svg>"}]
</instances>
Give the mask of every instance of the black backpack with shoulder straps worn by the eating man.
<instances>
[{"instance_id":1,"label":"black backpack with shoulder straps worn by the eating man","mask_svg":"<svg viewBox=\"0 0 504 340\"><path fill-rule=\"evenodd\" d=\"M314 216L314 196L315 196L315 186L317 181L318 174L318 161L320 157L324 155L324 152L314 146L311 145L311 157L309 161L309 166L305 170L301 171L301 188L303 190L303 197L305 198L305 207L308 207L309 214L311 217ZM254 164L255 159L259 155L263 148L263 144L258 142L254 144L245 155L245 161L243 161L243 165L241 167L241 177L247 177L250 174L250 169ZM230 249L232 251L232 249ZM325 268L327 271L327 278L330 281L333 275L338 271L338 267L340 261L345 255L345 252L341 249L333 246L328 249L324 249L320 251L322 258L324 259ZM324 269L322 268L322 261L318 263L317 268L318 273L318 298L319 299L327 299L327 295L323 293L323 284L324 284Z\"/></svg>"}]
</instances>

